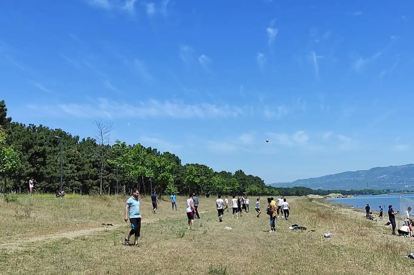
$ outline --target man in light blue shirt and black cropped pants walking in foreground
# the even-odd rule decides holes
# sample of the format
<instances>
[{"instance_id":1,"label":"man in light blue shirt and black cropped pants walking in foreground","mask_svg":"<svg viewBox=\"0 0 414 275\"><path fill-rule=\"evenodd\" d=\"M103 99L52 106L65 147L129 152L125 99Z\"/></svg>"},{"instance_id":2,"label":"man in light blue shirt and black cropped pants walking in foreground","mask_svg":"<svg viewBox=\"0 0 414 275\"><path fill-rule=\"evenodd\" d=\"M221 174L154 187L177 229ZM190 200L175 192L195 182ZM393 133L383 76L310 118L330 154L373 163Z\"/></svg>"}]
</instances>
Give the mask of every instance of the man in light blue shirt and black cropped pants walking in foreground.
<instances>
[{"instance_id":1,"label":"man in light blue shirt and black cropped pants walking in foreground","mask_svg":"<svg viewBox=\"0 0 414 275\"><path fill-rule=\"evenodd\" d=\"M140 237L141 232L141 213L140 213L140 191L134 189L132 192L132 197L127 200L125 206L125 223L128 222L128 217L131 223L131 231L128 234L128 237L125 238L125 245L129 245L129 239L132 234L134 237L134 245L140 247L138 244L138 238Z\"/></svg>"}]
</instances>

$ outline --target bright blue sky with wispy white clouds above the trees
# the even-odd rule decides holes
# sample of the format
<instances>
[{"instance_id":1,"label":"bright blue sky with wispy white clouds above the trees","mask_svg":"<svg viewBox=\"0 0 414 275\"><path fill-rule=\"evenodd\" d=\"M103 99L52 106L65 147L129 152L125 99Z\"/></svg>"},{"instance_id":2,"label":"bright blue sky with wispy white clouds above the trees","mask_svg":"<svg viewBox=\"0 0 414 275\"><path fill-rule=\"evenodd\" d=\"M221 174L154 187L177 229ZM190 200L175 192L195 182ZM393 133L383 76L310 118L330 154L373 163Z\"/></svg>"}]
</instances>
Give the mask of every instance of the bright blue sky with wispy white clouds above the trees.
<instances>
[{"instance_id":1,"label":"bright blue sky with wispy white clouds above the trees","mask_svg":"<svg viewBox=\"0 0 414 275\"><path fill-rule=\"evenodd\" d=\"M6 0L1 98L14 121L87 137L101 119L267 184L412 163L413 8Z\"/></svg>"}]
</instances>

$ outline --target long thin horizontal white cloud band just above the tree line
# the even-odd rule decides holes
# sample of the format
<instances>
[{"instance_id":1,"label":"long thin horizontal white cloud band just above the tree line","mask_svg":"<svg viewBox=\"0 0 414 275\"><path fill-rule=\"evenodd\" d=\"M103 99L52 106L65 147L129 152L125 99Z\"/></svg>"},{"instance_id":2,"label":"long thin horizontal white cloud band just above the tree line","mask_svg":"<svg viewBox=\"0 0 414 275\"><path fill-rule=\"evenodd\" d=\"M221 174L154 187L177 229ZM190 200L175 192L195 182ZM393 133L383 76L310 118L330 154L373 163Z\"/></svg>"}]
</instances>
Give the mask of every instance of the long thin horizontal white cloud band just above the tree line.
<instances>
[{"instance_id":1,"label":"long thin horizontal white cloud band just above the tree line","mask_svg":"<svg viewBox=\"0 0 414 275\"><path fill-rule=\"evenodd\" d=\"M171 117L225 118L243 114L243 108L210 103L185 104L182 101L148 100L135 104L98 98L87 103L64 103L57 105L29 104L38 114L79 118L138 118Z\"/></svg>"}]
</instances>

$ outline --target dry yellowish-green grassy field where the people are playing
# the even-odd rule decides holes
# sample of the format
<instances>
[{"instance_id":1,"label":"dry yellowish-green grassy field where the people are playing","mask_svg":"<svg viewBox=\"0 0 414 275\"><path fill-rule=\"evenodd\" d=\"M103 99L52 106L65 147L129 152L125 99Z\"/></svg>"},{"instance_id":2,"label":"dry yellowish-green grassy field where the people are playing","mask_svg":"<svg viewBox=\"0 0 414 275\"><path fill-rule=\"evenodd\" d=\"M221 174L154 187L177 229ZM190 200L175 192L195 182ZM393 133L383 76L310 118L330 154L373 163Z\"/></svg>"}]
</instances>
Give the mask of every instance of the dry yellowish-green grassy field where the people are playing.
<instances>
[{"instance_id":1,"label":"dry yellowish-green grassy field where the people are playing","mask_svg":"<svg viewBox=\"0 0 414 275\"><path fill-rule=\"evenodd\" d=\"M122 244L130 230L123 221L125 198L68 195L60 200L34 195L0 202L0 274L377 275L414 271L414 261L404 258L414 251L414 238L391 236L385 221L365 220L359 212L332 209L324 205L327 202L288 198L290 220L277 219L273 234L267 232L266 213L257 218L252 208L239 220L225 212L224 222L218 223L215 198L199 199L201 219L195 220L195 231L186 228L185 198L178 199L178 211L171 210L170 202L161 202L156 215L151 213L149 198L141 200L142 247ZM262 202L263 211L265 206ZM294 223L308 230L288 230ZM233 229L224 230L225 226ZM73 232L81 233L71 237ZM325 239L325 232L334 237Z\"/></svg>"}]
</instances>

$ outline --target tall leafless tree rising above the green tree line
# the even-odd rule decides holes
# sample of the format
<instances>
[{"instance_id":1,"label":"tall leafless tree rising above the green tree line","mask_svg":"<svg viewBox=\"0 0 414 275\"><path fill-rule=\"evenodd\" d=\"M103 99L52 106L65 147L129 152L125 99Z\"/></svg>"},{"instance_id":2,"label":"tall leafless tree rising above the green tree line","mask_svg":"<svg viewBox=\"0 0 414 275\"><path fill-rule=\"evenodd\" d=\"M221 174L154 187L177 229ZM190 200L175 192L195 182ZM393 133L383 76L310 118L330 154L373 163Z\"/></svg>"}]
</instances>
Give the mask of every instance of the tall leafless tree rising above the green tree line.
<instances>
[{"instance_id":1,"label":"tall leafless tree rising above the green tree line","mask_svg":"<svg viewBox=\"0 0 414 275\"><path fill-rule=\"evenodd\" d=\"M96 130L95 140L98 145L92 154L99 160L99 194L102 195L102 176L103 168L108 160L108 155L111 154L111 132L113 130L112 123L103 123L102 121L95 121Z\"/></svg>"}]
</instances>

